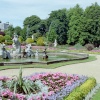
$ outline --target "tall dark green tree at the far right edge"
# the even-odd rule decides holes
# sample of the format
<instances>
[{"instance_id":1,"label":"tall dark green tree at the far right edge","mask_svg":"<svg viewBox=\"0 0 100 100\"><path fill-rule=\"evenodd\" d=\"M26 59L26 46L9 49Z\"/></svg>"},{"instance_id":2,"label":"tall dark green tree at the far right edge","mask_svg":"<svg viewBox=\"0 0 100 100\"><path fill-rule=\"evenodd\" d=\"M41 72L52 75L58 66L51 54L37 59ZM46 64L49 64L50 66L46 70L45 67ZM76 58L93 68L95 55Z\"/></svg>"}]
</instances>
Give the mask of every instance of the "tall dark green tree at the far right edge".
<instances>
[{"instance_id":1,"label":"tall dark green tree at the far right edge","mask_svg":"<svg viewBox=\"0 0 100 100\"><path fill-rule=\"evenodd\" d=\"M100 45L100 6L97 3L87 7L84 12L86 19L84 31L89 33L88 42Z\"/></svg>"}]
</instances>

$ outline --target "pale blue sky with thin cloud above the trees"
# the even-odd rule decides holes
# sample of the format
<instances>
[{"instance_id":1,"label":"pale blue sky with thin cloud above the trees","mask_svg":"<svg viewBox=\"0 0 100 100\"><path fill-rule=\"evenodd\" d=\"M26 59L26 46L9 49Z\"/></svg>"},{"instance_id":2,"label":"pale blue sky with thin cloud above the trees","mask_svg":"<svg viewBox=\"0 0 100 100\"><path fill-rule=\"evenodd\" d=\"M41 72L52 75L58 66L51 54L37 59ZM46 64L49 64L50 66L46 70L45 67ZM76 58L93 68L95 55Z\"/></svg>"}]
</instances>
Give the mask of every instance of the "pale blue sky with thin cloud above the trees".
<instances>
[{"instance_id":1,"label":"pale blue sky with thin cloud above the trees","mask_svg":"<svg viewBox=\"0 0 100 100\"><path fill-rule=\"evenodd\" d=\"M95 2L100 5L100 0L0 0L0 21L23 27L25 18L32 15L46 19L51 11L69 9L76 4L85 9Z\"/></svg>"}]
</instances>

